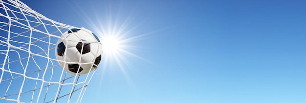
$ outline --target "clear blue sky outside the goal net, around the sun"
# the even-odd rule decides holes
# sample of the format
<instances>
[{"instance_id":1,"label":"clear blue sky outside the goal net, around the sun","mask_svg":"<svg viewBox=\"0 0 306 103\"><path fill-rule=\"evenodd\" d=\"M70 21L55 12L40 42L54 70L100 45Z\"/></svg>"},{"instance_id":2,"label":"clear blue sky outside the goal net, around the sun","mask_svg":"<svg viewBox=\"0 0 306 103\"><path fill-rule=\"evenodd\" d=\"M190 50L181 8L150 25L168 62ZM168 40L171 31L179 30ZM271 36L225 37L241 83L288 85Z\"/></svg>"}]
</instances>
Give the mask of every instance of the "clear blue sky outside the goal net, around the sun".
<instances>
[{"instance_id":1,"label":"clear blue sky outside the goal net, around the sun","mask_svg":"<svg viewBox=\"0 0 306 103\"><path fill-rule=\"evenodd\" d=\"M305 0L23 2L101 38L122 35L84 103L306 103Z\"/></svg>"}]
</instances>

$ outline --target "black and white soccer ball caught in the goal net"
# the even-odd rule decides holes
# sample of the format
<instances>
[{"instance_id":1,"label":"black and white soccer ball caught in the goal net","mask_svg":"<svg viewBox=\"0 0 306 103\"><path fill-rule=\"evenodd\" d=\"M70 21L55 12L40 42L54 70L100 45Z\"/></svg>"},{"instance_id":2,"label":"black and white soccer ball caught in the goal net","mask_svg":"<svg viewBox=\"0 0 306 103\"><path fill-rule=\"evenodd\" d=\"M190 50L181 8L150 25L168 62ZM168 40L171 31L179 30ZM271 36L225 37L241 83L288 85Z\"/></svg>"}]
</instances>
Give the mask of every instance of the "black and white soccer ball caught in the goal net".
<instances>
[{"instance_id":1,"label":"black and white soccer ball caught in the goal net","mask_svg":"<svg viewBox=\"0 0 306 103\"><path fill-rule=\"evenodd\" d=\"M55 48L59 64L71 74L86 74L96 69L101 60L101 42L85 28L68 30L58 39Z\"/></svg>"}]
</instances>

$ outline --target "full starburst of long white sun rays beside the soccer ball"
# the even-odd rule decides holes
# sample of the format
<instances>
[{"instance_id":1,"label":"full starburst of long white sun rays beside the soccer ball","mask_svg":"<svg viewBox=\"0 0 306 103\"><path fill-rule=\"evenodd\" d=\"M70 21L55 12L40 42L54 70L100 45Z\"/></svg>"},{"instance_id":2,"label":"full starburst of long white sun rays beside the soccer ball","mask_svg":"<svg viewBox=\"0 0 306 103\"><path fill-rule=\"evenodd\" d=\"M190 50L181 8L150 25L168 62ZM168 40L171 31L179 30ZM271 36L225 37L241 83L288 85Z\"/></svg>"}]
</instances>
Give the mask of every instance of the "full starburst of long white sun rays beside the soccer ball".
<instances>
[{"instance_id":1,"label":"full starburst of long white sun rays beside the soccer ball","mask_svg":"<svg viewBox=\"0 0 306 103\"><path fill-rule=\"evenodd\" d=\"M138 56L135 51L144 49L139 47L140 41L157 31L140 32L138 28L143 25L146 19L135 20L135 10L122 10L116 8L114 10L107 5L101 7L91 7L92 11L85 12L80 5L76 12L86 21L87 27L94 34L96 34L102 43L103 53L101 63L96 70L96 76L100 78L99 85L102 84L106 75L113 75L112 73L122 73L127 83L133 88L133 82L129 73L134 72L132 69L133 63L131 60L139 59L141 61L149 62ZM136 59L135 59L136 58ZM150 62L151 63L151 62ZM119 71L119 72L118 72ZM119 76L119 75L117 75Z\"/></svg>"}]
</instances>

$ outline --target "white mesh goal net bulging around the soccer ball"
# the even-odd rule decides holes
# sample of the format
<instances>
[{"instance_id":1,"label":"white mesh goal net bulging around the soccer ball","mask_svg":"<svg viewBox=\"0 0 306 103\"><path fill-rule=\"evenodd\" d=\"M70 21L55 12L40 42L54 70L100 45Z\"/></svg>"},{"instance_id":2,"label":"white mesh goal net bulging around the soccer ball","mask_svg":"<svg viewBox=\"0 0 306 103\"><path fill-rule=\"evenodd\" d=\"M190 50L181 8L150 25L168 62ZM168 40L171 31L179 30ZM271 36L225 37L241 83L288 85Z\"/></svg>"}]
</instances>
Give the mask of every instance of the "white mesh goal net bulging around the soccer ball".
<instances>
[{"instance_id":1,"label":"white mesh goal net bulging around the soccer ball","mask_svg":"<svg viewBox=\"0 0 306 103\"><path fill-rule=\"evenodd\" d=\"M67 73L55 58L58 38L77 28L19 0L0 0L0 103L79 103L94 71Z\"/></svg>"}]
</instances>

